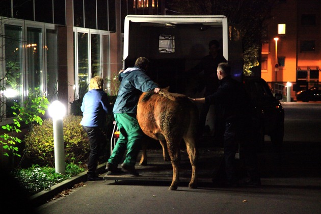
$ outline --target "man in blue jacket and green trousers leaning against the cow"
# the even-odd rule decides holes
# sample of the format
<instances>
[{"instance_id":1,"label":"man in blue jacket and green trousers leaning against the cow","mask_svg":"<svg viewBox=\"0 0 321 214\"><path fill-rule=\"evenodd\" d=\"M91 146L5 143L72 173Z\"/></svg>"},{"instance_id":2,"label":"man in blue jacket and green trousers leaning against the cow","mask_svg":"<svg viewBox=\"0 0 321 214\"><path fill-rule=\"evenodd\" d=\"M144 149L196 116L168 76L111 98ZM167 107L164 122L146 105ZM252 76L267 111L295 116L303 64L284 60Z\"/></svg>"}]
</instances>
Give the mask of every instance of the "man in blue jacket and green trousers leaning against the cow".
<instances>
[{"instance_id":1,"label":"man in blue jacket and green trousers leaning against the cow","mask_svg":"<svg viewBox=\"0 0 321 214\"><path fill-rule=\"evenodd\" d=\"M108 174L121 171L118 165L127 150L121 168L130 174L138 175L135 164L144 133L136 118L137 103L142 92L153 90L154 93L158 93L161 90L145 73L148 63L148 59L140 57L136 60L134 67L119 72L121 84L114 104L113 114L120 135L106 165L106 170L109 171Z\"/></svg>"}]
</instances>

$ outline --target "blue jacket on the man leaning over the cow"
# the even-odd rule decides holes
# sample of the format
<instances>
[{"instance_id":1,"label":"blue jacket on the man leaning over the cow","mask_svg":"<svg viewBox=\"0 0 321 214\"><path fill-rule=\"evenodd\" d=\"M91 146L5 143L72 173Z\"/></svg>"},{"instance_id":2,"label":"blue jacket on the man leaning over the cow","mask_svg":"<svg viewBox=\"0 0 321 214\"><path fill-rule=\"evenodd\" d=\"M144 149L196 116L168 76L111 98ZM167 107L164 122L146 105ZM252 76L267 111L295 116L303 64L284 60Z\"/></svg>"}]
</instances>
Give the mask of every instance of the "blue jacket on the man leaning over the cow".
<instances>
[{"instance_id":1,"label":"blue jacket on the man leaning over the cow","mask_svg":"<svg viewBox=\"0 0 321 214\"><path fill-rule=\"evenodd\" d=\"M120 86L113 113L137 114L137 103L142 92L158 86L139 67L127 68L119 75Z\"/></svg>"}]
</instances>

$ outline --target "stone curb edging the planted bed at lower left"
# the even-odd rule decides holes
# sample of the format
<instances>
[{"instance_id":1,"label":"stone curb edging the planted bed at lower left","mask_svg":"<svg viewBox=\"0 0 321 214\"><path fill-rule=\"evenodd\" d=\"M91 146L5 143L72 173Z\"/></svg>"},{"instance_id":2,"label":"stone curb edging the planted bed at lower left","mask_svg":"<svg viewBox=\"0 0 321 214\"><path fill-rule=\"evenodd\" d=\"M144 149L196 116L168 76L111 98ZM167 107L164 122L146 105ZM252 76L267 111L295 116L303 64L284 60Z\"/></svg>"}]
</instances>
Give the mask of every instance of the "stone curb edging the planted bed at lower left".
<instances>
[{"instance_id":1,"label":"stone curb edging the planted bed at lower left","mask_svg":"<svg viewBox=\"0 0 321 214\"><path fill-rule=\"evenodd\" d=\"M106 167L106 163L100 164L97 166L97 172L103 173ZM43 190L39 193L36 193L30 197L30 202L33 206L40 206L45 204L47 200L54 197L55 195L61 193L66 189L72 188L72 186L76 183L87 181L87 170L82 172L76 176L73 176L70 179L64 180L56 185L51 186L48 190Z\"/></svg>"}]
</instances>

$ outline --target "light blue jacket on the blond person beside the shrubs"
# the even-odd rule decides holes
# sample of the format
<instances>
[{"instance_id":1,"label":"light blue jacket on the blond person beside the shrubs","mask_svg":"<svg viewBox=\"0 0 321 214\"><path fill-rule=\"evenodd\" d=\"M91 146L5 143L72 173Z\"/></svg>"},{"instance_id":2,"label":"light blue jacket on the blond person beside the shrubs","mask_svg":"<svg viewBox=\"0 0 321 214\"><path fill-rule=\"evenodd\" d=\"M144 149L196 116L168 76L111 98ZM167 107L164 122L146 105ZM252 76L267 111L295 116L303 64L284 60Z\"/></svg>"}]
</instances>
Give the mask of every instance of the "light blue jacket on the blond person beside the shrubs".
<instances>
[{"instance_id":1,"label":"light blue jacket on the blond person beside the shrubs","mask_svg":"<svg viewBox=\"0 0 321 214\"><path fill-rule=\"evenodd\" d=\"M102 127L106 121L106 114L110 113L108 95L99 89L88 91L81 106L83 119L81 125L88 127Z\"/></svg>"}]
</instances>

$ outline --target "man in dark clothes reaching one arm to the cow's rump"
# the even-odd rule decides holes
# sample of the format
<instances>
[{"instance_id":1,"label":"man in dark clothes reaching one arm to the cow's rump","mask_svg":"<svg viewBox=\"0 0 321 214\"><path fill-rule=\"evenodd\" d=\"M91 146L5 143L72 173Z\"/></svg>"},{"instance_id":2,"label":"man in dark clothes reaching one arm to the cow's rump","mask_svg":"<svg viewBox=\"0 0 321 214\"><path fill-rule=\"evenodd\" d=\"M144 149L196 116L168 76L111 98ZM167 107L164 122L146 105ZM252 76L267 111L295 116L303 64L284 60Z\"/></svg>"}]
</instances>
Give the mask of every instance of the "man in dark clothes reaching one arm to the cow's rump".
<instances>
[{"instance_id":1,"label":"man in dark clothes reaching one arm to the cow's rump","mask_svg":"<svg viewBox=\"0 0 321 214\"><path fill-rule=\"evenodd\" d=\"M257 168L253 133L251 133L250 100L242 83L233 79L230 73L230 66L227 63L220 63L217 68L217 75L220 80L218 90L211 95L193 100L200 103L215 104L217 116L225 123L224 163L227 184L231 186L238 184L259 185L260 176ZM238 149L240 149L240 158L244 161L248 173L242 181L235 167L235 154Z\"/></svg>"}]
</instances>

